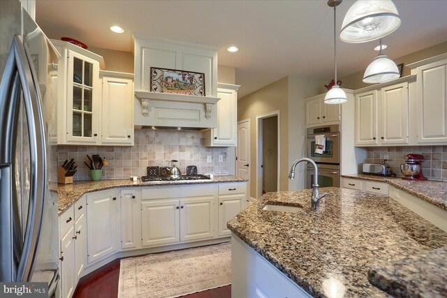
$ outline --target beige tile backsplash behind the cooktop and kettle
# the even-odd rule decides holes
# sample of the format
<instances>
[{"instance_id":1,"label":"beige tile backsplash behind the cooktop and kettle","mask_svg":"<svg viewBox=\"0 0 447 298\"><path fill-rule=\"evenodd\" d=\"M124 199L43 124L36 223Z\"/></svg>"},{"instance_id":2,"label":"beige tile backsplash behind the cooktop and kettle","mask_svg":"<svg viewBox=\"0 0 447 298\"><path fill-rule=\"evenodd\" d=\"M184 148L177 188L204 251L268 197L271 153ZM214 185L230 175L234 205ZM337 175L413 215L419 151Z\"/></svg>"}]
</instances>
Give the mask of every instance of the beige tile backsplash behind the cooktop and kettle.
<instances>
[{"instance_id":1,"label":"beige tile backsplash behind the cooktop and kettle","mask_svg":"<svg viewBox=\"0 0 447 298\"><path fill-rule=\"evenodd\" d=\"M110 165L103 167L103 179L145 176L147 166L166 166L171 159L182 164L179 166L182 173L186 173L186 165L196 165L200 174L228 174L228 148L205 147L205 138L200 132L142 129L135 131L133 147L59 145L58 165L75 158L78 172L73 179L88 180L89 169L84 165L87 154L98 154L109 161ZM223 156L222 162L219 155ZM212 156L211 163L207 163L207 156Z\"/></svg>"}]
</instances>

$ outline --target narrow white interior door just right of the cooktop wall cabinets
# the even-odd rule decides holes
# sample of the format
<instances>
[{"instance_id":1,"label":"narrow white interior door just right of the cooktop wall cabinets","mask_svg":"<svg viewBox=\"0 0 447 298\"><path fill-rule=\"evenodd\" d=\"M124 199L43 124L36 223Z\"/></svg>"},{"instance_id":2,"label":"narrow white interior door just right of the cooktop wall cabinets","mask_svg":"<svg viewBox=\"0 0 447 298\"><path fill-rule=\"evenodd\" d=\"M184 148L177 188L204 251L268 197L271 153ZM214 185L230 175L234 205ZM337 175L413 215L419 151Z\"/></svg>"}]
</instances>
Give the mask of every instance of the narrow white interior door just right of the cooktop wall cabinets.
<instances>
[{"instance_id":1,"label":"narrow white interior door just right of the cooktop wall cabinets","mask_svg":"<svg viewBox=\"0 0 447 298\"><path fill-rule=\"evenodd\" d=\"M247 190L250 189L250 120L237 124L236 177L247 179Z\"/></svg>"}]
</instances>

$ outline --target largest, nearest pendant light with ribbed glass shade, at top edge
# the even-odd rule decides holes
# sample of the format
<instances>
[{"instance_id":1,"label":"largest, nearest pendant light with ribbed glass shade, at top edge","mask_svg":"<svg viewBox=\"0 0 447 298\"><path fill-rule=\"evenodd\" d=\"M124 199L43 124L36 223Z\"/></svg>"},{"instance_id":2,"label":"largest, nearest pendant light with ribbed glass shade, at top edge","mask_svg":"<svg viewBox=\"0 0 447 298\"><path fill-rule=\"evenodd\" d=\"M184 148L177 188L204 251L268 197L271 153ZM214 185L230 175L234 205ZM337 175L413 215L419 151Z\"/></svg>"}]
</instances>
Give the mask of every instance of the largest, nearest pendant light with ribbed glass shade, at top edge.
<instances>
[{"instance_id":1,"label":"largest, nearest pendant light with ribbed glass shade, at top edge","mask_svg":"<svg viewBox=\"0 0 447 298\"><path fill-rule=\"evenodd\" d=\"M401 23L391 0L358 0L344 16L340 39L345 43L366 43L387 36Z\"/></svg>"}]
</instances>

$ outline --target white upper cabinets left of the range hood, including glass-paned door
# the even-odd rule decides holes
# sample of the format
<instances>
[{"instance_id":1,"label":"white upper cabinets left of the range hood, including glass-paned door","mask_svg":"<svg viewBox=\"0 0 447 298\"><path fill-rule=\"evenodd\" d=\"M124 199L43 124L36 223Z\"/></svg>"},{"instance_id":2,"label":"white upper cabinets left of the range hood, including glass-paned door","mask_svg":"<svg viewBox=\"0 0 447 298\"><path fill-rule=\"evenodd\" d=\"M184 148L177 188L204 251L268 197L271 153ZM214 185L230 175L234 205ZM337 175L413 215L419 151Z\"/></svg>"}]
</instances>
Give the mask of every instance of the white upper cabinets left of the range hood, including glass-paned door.
<instances>
[{"instance_id":1,"label":"white upper cabinets left of the range hood, including glass-paned door","mask_svg":"<svg viewBox=\"0 0 447 298\"><path fill-rule=\"evenodd\" d=\"M133 145L133 75L103 71L101 56L61 40L57 144Z\"/></svg>"}]
</instances>

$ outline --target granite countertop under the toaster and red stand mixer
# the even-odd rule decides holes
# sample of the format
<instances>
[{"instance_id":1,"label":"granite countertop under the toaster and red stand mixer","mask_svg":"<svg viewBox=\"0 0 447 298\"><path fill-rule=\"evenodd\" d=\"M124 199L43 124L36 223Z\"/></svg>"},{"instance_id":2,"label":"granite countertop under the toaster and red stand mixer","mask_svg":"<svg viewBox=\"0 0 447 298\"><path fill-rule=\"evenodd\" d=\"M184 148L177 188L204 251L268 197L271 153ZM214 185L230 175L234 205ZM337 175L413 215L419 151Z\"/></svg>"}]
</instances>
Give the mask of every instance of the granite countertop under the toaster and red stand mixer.
<instances>
[{"instance_id":1,"label":"granite countertop under the toaster and red stand mixer","mask_svg":"<svg viewBox=\"0 0 447 298\"><path fill-rule=\"evenodd\" d=\"M404 180L402 177L381 177L365 174L343 174L342 177L386 182L410 195L447 210L447 182L445 181L410 181Z\"/></svg>"}]
</instances>

